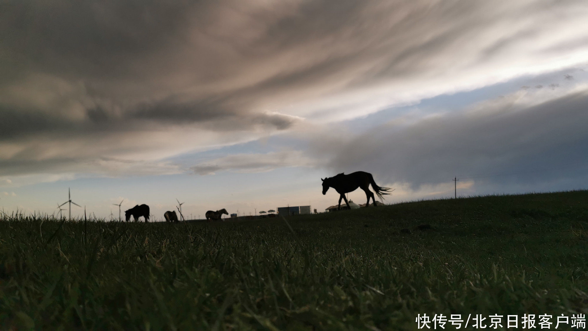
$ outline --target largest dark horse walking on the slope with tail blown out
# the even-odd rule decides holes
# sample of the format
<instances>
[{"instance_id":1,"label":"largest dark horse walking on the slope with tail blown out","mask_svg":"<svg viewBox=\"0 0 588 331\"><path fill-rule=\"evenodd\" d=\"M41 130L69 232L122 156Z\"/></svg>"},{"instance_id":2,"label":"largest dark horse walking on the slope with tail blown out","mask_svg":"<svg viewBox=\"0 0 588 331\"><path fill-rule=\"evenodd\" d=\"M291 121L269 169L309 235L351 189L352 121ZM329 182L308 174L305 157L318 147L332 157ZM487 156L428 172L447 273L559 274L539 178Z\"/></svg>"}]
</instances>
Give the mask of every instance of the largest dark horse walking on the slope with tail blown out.
<instances>
[{"instance_id":1,"label":"largest dark horse walking on the slope with tail blown out","mask_svg":"<svg viewBox=\"0 0 588 331\"><path fill-rule=\"evenodd\" d=\"M345 193L349 193L351 191L355 191L358 187L360 187L368 197L368 203L366 203L366 207L369 206L369 198L372 198L374 202L374 206L376 206L376 199L373 196L372 191L369 190L369 185L372 184L372 188L376 191L377 196L382 200L382 196L389 194L387 192L391 192L390 188L387 187L380 187L377 186L376 182L373 180L373 176L370 173L366 173L365 171L356 171L355 173L351 174L343 174L340 173L337 176L329 177L329 178L320 178L323 181L323 194L327 194L329 187L335 188L337 193L341 196L339 197L339 207L341 208L341 199L345 200L347 207L349 207L349 203L347 202L347 198L345 197ZM351 209L351 207L349 207Z\"/></svg>"}]
</instances>

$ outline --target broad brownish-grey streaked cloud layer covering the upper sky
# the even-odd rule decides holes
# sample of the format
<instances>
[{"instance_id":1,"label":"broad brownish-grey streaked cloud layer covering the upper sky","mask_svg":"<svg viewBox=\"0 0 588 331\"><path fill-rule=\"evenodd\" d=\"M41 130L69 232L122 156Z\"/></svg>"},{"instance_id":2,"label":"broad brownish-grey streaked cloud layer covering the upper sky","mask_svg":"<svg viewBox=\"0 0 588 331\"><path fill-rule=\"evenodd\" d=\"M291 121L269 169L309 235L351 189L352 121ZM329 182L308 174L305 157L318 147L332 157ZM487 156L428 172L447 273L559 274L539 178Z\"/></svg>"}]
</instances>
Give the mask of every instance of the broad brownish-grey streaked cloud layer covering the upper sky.
<instances>
[{"instance_id":1,"label":"broad brownish-grey streaked cloud layer covering the upper sky","mask_svg":"<svg viewBox=\"0 0 588 331\"><path fill-rule=\"evenodd\" d=\"M587 11L583 0L6 1L0 175L117 173L131 160L167 173L165 157L300 117L574 65L588 54Z\"/></svg>"}]
</instances>

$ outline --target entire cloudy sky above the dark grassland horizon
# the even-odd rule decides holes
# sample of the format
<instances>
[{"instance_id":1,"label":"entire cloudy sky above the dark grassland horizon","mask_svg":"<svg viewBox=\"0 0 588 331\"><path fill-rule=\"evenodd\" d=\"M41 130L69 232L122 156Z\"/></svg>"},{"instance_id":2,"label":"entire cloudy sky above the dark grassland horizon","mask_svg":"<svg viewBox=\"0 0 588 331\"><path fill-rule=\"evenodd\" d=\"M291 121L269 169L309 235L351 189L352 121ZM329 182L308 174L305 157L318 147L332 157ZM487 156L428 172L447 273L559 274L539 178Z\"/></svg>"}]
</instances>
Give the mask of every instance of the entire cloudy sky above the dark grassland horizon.
<instances>
[{"instance_id":1,"label":"entire cloudy sky above the dark grassland horizon","mask_svg":"<svg viewBox=\"0 0 588 331\"><path fill-rule=\"evenodd\" d=\"M585 0L4 1L0 208L588 188ZM365 203L363 191L349 193ZM67 213L67 210L64 211ZM72 216L83 208L72 207ZM124 215L123 215L124 217Z\"/></svg>"}]
</instances>

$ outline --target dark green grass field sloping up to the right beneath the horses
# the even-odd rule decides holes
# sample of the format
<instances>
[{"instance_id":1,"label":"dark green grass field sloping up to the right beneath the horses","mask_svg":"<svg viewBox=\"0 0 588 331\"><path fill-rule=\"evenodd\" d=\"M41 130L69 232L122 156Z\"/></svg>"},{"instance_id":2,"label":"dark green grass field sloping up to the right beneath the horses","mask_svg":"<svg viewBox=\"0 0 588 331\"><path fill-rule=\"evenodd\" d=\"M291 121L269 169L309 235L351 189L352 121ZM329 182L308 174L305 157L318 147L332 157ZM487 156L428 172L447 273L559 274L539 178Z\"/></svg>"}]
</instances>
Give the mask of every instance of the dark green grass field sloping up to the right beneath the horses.
<instances>
[{"instance_id":1,"label":"dark green grass field sloping up to the right beneath the horses","mask_svg":"<svg viewBox=\"0 0 588 331\"><path fill-rule=\"evenodd\" d=\"M0 329L413 330L423 313L588 312L588 191L286 219L0 221Z\"/></svg>"}]
</instances>

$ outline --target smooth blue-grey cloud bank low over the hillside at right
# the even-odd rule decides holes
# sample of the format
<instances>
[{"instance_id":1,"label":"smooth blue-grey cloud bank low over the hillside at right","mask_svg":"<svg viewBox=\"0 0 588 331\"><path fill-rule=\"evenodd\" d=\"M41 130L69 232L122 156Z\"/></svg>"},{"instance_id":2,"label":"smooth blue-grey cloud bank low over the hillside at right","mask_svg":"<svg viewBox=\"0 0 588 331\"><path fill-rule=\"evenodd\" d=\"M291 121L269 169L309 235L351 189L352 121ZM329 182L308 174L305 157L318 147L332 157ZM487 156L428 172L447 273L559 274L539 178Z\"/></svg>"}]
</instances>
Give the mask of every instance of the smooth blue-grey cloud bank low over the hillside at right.
<instances>
[{"instance_id":1,"label":"smooth blue-grey cloud bank low over the hillside at right","mask_svg":"<svg viewBox=\"0 0 588 331\"><path fill-rule=\"evenodd\" d=\"M372 171L387 183L533 183L585 174L588 92L526 107L512 100L415 124L382 125L329 155L333 173ZM320 143L318 144L320 145ZM323 156L324 157L324 156Z\"/></svg>"}]
</instances>

